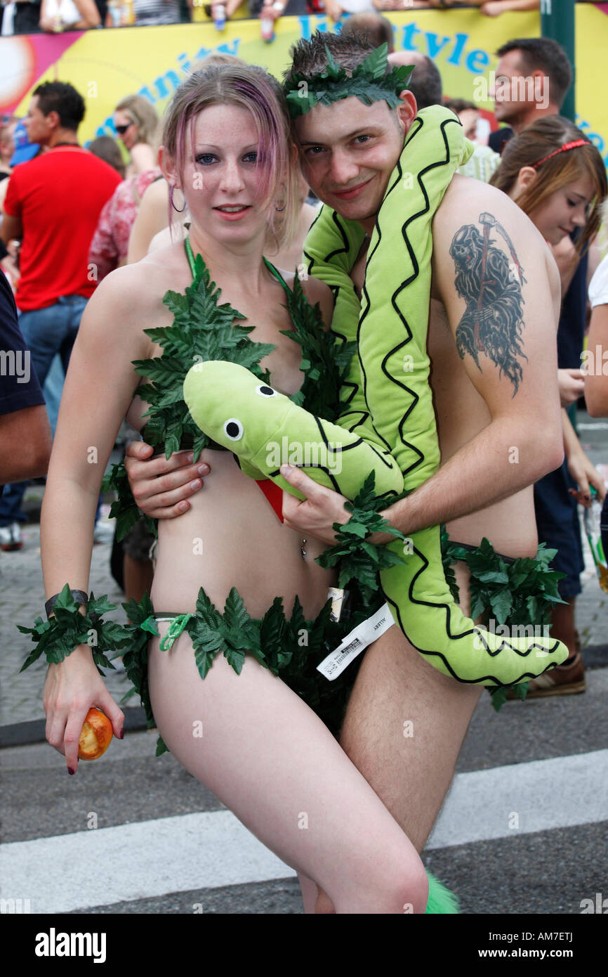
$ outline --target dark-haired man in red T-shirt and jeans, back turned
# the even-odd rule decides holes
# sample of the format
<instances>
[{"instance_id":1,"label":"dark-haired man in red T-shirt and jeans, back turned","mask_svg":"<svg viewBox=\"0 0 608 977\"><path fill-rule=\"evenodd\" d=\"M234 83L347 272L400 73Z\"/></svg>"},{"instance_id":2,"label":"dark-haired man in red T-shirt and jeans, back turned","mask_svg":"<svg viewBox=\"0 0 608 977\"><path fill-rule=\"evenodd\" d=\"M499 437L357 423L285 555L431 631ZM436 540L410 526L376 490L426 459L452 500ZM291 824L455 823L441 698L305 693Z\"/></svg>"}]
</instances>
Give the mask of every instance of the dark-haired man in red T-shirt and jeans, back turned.
<instances>
[{"instance_id":1,"label":"dark-haired man in red T-shirt and jeans, back turned","mask_svg":"<svg viewBox=\"0 0 608 977\"><path fill-rule=\"evenodd\" d=\"M97 284L88 265L101 208L120 177L78 145L85 114L82 96L69 84L45 82L34 90L24 120L30 143L45 151L12 173L0 236L20 238L17 305L20 330L44 386L56 353L67 368L80 318ZM20 503L26 483L0 497L0 548L20 548Z\"/></svg>"}]
</instances>

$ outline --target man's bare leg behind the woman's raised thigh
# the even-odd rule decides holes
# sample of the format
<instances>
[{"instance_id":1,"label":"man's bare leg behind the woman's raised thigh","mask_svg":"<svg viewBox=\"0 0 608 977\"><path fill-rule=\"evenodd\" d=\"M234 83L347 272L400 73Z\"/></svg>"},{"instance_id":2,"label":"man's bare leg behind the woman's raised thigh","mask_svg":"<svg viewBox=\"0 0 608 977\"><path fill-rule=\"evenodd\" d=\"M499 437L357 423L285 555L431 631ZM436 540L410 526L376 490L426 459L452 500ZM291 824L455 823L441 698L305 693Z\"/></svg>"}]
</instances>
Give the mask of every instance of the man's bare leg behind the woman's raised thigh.
<instances>
[{"instance_id":1,"label":"man's bare leg behind the woman's raised thigh","mask_svg":"<svg viewBox=\"0 0 608 977\"><path fill-rule=\"evenodd\" d=\"M468 613L468 572L456 565ZM391 627L372 645L354 685L341 743L418 851L454 775L481 686L442 675Z\"/></svg>"}]
</instances>

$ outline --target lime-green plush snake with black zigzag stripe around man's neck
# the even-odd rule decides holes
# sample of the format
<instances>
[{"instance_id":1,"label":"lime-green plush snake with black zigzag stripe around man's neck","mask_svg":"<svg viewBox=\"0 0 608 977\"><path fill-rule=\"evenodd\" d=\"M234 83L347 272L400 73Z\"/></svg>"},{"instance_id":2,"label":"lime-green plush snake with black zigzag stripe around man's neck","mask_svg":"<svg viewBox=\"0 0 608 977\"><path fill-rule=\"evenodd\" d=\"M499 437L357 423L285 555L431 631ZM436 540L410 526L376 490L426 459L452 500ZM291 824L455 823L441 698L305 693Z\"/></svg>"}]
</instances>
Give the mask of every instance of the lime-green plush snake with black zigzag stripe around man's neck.
<instances>
[{"instance_id":1,"label":"lime-green plush snake with black zigzag stripe around man's neck","mask_svg":"<svg viewBox=\"0 0 608 977\"><path fill-rule=\"evenodd\" d=\"M374 471L378 496L389 500L436 471L426 354L431 220L470 152L452 112L431 106L416 117L370 242L360 316L348 276L364 236L360 225L323 207L306 239L310 274L336 296L332 328L358 347L341 391L340 425L308 413L237 364L211 361L190 369L183 397L193 420L237 456L247 475L265 476L299 495L278 471L290 460L352 499ZM381 572L392 615L444 674L465 683L512 685L567 657L566 647L550 637L507 638L462 613L446 582L438 527L413 533L405 546L395 540L389 549L403 561Z\"/></svg>"}]
</instances>

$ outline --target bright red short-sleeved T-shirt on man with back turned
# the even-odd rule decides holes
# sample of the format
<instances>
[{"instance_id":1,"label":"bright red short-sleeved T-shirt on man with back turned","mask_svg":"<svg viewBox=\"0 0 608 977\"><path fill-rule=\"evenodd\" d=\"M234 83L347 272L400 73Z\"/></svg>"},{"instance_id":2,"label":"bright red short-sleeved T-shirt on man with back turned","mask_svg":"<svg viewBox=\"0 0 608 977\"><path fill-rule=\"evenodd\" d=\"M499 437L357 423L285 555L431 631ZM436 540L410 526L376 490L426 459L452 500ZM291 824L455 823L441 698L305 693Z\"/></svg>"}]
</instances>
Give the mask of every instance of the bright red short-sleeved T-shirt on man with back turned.
<instances>
[{"instance_id":1,"label":"bright red short-sleeved T-shirt on man with back turned","mask_svg":"<svg viewBox=\"0 0 608 977\"><path fill-rule=\"evenodd\" d=\"M4 209L20 218L23 232L15 296L22 312L44 309L61 295L93 295L91 238L119 183L116 170L80 147L49 149L15 168Z\"/></svg>"}]
</instances>

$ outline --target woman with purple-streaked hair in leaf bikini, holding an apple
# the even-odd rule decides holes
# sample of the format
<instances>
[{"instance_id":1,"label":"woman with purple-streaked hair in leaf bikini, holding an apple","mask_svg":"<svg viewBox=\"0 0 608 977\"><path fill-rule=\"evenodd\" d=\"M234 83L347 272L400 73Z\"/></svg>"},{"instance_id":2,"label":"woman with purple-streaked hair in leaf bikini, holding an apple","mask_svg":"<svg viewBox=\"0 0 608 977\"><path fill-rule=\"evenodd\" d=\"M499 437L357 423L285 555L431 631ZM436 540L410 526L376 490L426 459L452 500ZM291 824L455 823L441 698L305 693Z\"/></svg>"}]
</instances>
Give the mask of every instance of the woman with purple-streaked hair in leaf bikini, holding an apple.
<instances>
[{"instance_id":1,"label":"woman with purple-streaked hair in leaf bikini, holding an apple","mask_svg":"<svg viewBox=\"0 0 608 977\"><path fill-rule=\"evenodd\" d=\"M165 177L190 213L193 254L202 255L223 302L254 326L250 338L275 345L263 361L273 386L294 393L302 380L300 351L281 335L290 327L283 286L263 262L268 237L283 243L298 206L296 154L277 83L255 66L196 72L174 96L163 145ZM142 330L171 324L163 296L168 289L183 292L190 281L178 242L107 276L89 303L65 383L42 512L48 597L66 582L88 590L101 474L122 418L144 424L132 361L159 352ZM313 279L303 284L329 321L329 289ZM91 446L97 464L89 463ZM213 485L197 494L182 519L159 527L154 608L192 612L201 586L223 607L236 587L251 616L261 616L276 595L288 613L299 595L304 614L316 616L332 582L314 562L322 545L308 540L304 546L283 526L228 452L203 452L201 474L212 456ZM161 639L166 629L159 623ZM151 640L148 681L165 743L300 872L306 909L313 908L318 885L338 913L403 913L407 905L425 912L426 873L414 846L321 720L279 678L250 657L237 675L218 656L201 680L184 631L169 652ZM70 773L90 706L100 706L122 735L123 714L88 646L49 667L44 705L47 738ZM192 735L197 721L202 738Z\"/></svg>"}]
</instances>

